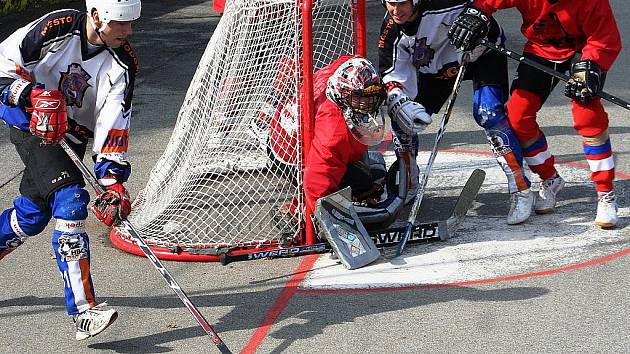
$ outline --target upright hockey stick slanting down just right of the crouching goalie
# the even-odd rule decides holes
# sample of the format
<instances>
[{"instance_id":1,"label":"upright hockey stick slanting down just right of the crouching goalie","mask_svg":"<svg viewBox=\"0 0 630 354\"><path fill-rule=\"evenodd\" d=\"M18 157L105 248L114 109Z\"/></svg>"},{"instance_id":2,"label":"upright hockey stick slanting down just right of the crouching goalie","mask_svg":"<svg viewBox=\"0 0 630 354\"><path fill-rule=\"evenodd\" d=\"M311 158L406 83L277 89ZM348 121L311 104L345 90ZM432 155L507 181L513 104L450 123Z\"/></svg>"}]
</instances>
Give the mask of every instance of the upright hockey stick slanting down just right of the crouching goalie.
<instances>
[{"instance_id":1,"label":"upright hockey stick slanting down just right of the crouching goalie","mask_svg":"<svg viewBox=\"0 0 630 354\"><path fill-rule=\"evenodd\" d=\"M446 104L446 110L444 111L444 115L442 116L442 122L440 123L440 128L438 129L437 134L435 135L435 141L433 142L433 149L431 150L431 155L429 155L429 161L427 162L427 166L424 169L424 174L422 175L422 179L420 180L420 184L418 186L418 194L416 195L416 200L413 202L413 206L411 207L411 213L409 213L409 219L407 220L407 228L405 229L405 233L400 238L400 243L398 243L398 248L396 248L396 256L400 256L405 250L405 245L407 245L407 240L409 240L409 236L411 235L411 230L413 229L413 223L416 221L416 217L418 215L418 211L420 210L420 204L422 203L422 197L424 196L424 189L427 186L427 182L429 181L429 174L431 173L431 167L433 166L433 161L435 160L435 156L437 155L437 148L440 144L440 140L442 140L442 136L444 136L444 132L446 130L446 123L448 123L449 117L451 116L451 112L453 111L453 106L455 106L455 99L457 98L457 92L459 91L459 87L464 79L464 73L466 72L466 66L468 65L468 61L470 59L470 54L468 52L464 53L462 57L462 65L459 68L459 72L457 73L457 77L455 78L455 83L453 83L453 91L451 92L451 97L448 99L448 103Z\"/></svg>"}]
</instances>

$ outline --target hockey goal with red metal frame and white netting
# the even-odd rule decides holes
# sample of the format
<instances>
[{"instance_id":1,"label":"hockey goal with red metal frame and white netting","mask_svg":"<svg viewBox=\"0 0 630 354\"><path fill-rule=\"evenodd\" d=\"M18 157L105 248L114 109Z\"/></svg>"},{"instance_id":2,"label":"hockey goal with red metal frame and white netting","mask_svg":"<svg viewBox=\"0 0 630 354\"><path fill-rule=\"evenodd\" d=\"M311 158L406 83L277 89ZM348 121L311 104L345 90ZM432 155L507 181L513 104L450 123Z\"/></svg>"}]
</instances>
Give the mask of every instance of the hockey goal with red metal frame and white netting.
<instances>
[{"instance_id":1,"label":"hockey goal with red metal frame and white netting","mask_svg":"<svg viewBox=\"0 0 630 354\"><path fill-rule=\"evenodd\" d=\"M312 75L343 54L366 55L364 1L228 1L134 201L130 221L158 258L218 261L219 249L315 242L302 193ZM110 238L142 255L122 230Z\"/></svg>"}]
</instances>

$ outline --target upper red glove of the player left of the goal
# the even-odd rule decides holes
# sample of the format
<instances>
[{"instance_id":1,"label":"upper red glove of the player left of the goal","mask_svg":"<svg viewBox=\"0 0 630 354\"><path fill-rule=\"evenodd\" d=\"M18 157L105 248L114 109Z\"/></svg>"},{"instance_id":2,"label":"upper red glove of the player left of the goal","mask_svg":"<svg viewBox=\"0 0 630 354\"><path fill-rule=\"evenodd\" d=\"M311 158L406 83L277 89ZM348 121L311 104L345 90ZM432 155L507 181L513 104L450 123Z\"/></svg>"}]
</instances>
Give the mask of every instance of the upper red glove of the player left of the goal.
<instances>
[{"instance_id":1,"label":"upper red glove of the player left of the goal","mask_svg":"<svg viewBox=\"0 0 630 354\"><path fill-rule=\"evenodd\" d=\"M58 144L68 130L68 114L63 94L59 90L33 88L30 100L33 107L26 111L31 113L31 133L42 138L46 145Z\"/></svg>"}]
</instances>

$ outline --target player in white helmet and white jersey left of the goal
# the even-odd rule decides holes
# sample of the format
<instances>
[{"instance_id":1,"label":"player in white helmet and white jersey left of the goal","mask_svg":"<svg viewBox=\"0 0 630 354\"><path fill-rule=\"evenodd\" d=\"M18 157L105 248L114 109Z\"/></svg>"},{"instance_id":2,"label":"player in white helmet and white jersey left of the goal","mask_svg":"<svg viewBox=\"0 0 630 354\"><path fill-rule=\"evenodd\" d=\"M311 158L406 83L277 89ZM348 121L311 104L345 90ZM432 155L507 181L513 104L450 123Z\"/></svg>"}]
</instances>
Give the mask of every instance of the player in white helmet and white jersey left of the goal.
<instances>
[{"instance_id":1,"label":"player in white helmet and white jersey left of the goal","mask_svg":"<svg viewBox=\"0 0 630 354\"><path fill-rule=\"evenodd\" d=\"M83 157L88 139L106 192L92 208L111 226L131 211L123 183L138 61L127 42L140 0L86 0L87 12L51 12L0 43L0 119L26 169L20 196L0 214L0 259L56 219L53 250L76 339L94 336L118 316L97 305L85 232L89 194L61 139Z\"/></svg>"}]
</instances>

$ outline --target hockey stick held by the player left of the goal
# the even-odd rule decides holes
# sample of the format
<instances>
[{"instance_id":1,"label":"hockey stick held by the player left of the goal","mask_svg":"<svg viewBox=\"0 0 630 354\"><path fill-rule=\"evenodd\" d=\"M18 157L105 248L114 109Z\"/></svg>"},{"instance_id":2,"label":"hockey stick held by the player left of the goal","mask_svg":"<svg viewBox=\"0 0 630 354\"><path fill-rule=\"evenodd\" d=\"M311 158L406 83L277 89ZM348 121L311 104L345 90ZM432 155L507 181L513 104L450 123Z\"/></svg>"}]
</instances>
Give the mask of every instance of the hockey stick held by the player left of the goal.
<instances>
[{"instance_id":1,"label":"hockey stick held by the player left of the goal","mask_svg":"<svg viewBox=\"0 0 630 354\"><path fill-rule=\"evenodd\" d=\"M74 162L74 164L77 166L79 171L81 171L81 174L90 183L92 188L94 188L94 190L98 194L104 193L105 188L103 188L103 186L101 186L100 183L98 183L98 181L96 180L96 177L92 175L92 173L88 170L88 168L85 166L83 161L79 158L79 156L77 156L74 150L72 150L72 148L68 145L68 143L65 140L61 140L59 145L61 145L63 150L66 152L68 157L70 157L72 162ZM217 332L214 331L212 326L208 323L208 321L206 321L206 319L203 317L201 312L199 312L197 307L195 307L195 305L190 301L186 293L184 293L184 291L179 287L179 285L177 284L173 276L171 276L171 274L164 267L162 262L160 262L160 260L155 256L155 253L153 253L153 251L149 248L149 246L147 246L146 242L144 241L142 236L140 236L140 234L136 231L133 225L128 220L125 219L121 221L120 227L123 228L125 231L127 231L129 235L131 235L131 237L133 237L133 239L137 242L138 247L140 247L142 252L144 252L145 256L147 256L147 258L151 261L155 269L157 269L157 271L160 272L160 274L162 274L162 277L164 278L168 286L171 289L173 289L173 291L175 291L175 294L177 294L177 297L179 297L179 299L184 303L184 305L186 305L186 307L188 308L188 311L190 311L190 313L197 320L197 323L199 323L199 325L201 326L201 328L203 328L206 334L210 336L210 339L217 346L219 351L223 354L231 354L232 352L228 349L225 343L223 343L221 338L219 338L219 335L217 334Z\"/></svg>"}]
</instances>

